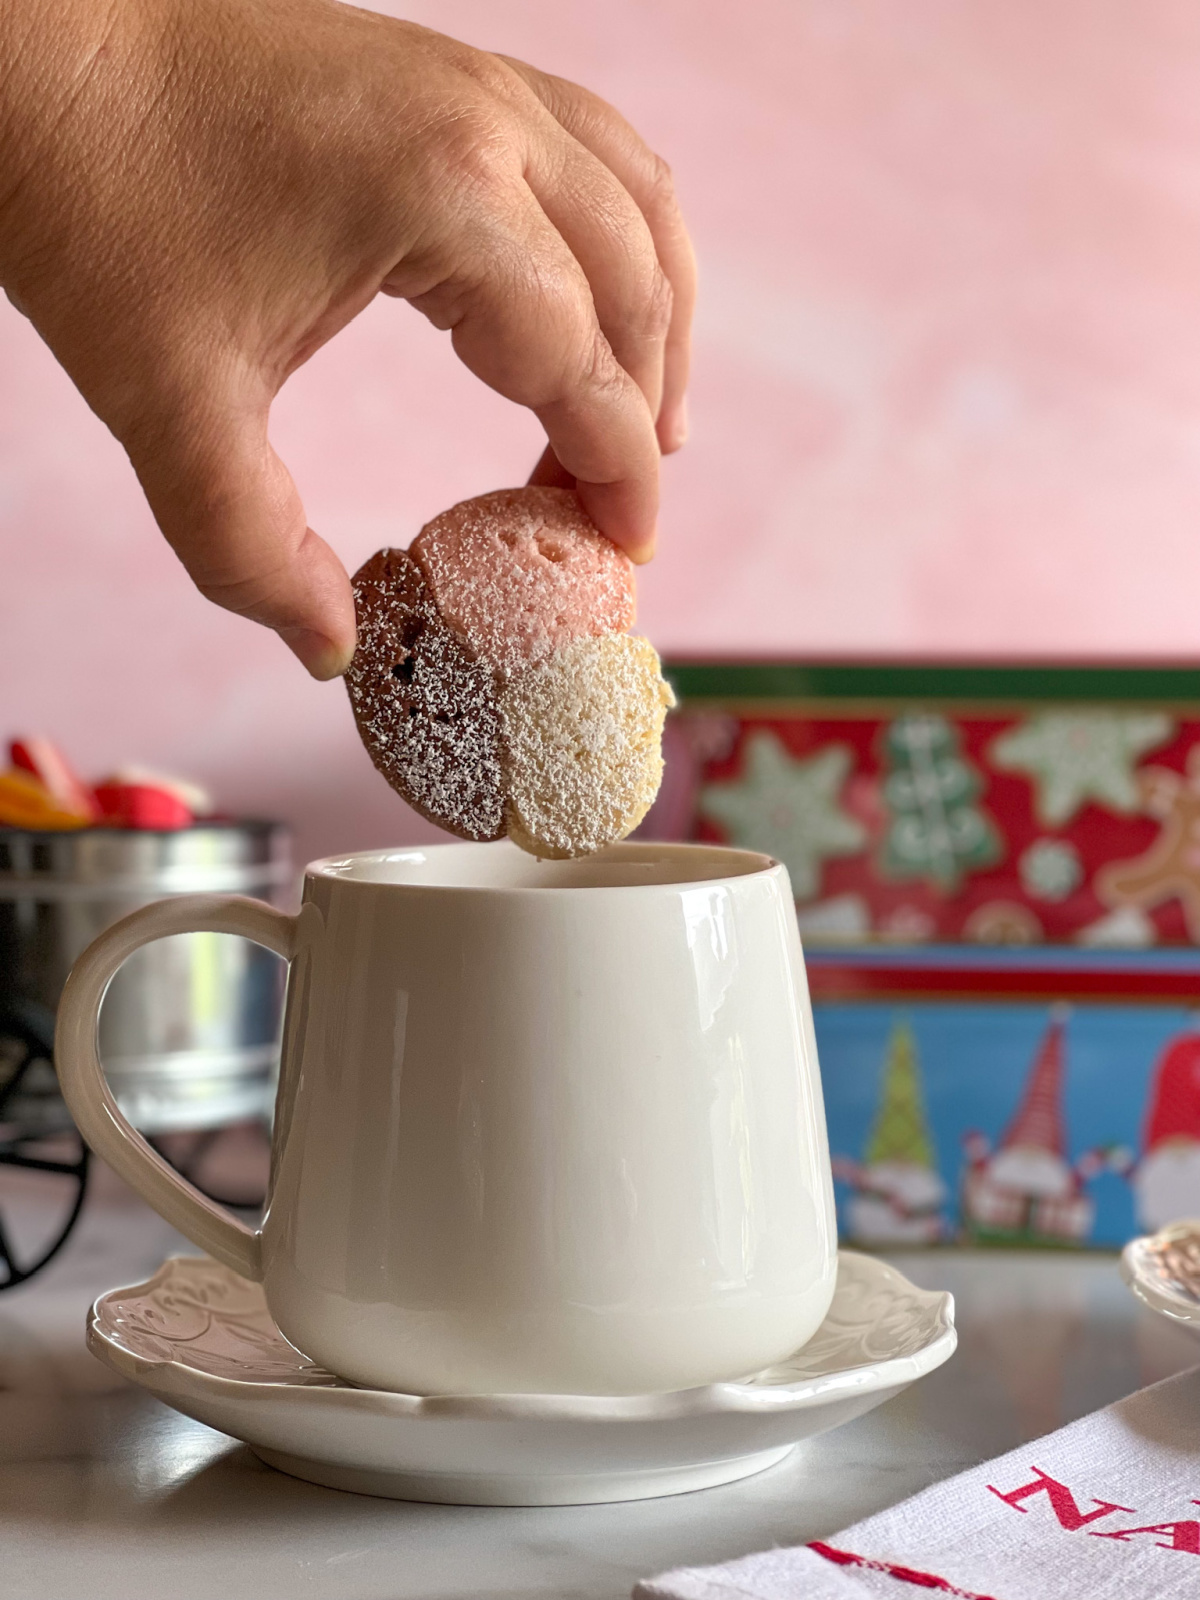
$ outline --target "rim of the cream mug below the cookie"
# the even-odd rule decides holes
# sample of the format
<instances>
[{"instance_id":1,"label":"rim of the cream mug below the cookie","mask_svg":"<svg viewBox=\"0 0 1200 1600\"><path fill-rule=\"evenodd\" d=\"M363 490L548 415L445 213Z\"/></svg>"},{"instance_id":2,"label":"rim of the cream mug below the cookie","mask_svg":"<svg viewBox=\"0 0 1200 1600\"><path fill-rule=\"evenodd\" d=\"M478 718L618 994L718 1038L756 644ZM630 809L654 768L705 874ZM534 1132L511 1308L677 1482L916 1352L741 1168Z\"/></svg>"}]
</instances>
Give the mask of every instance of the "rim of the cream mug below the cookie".
<instances>
[{"instance_id":1,"label":"rim of the cream mug below the cookie","mask_svg":"<svg viewBox=\"0 0 1200 1600\"><path fill-rule=\"evenodd\" d=\"M414 880L389 880L389 878L368 878L357 877L349 869L355 862L363 861L414 861L421 862L429 856L440 856L450 851L478 851L478 850L494 850L498 846L506 846L507 850L518 851L522 858L528 861L539 861L536 856L526 856L507 838L491 840L486 843L475 843L474 840L454 838L437 842L432 845L395 845L395 846L378 846L374 850L350 850L342 854L318 856L315 861L309 861L304 867L304 882L323 880L328 883L339 883L346 886L354 886L360 890L406 890L410 893L437 893L437 894L502 894L502 896L523 896L523 894L626 894L630 891L638 893L654 893L662 890L698 890L698 888L718 888L731 886L750 878L763 878L784 872L784 864L774 856L768 856L760 850L742 850L738 845L720 845L715 840L643 840L643 838L624 838L614 845L605 846L605 850L597 851L595 856L579 856L573 858L576 861L594 861L597 858L610 856L613 853L621 853L629 858L650 856L653 853L672 854L672 856L720 856L734 858L736 861L747 862L742 870L734 872L717 872L706 877L694 878L666 878L658 883L438 883L438 882L421 882ZM755 866L749 866L755 862ZM541 862L539 862L541 864ZM547 861L547 866L568 866L566 861Z\"/></svg>"}]
</instances>

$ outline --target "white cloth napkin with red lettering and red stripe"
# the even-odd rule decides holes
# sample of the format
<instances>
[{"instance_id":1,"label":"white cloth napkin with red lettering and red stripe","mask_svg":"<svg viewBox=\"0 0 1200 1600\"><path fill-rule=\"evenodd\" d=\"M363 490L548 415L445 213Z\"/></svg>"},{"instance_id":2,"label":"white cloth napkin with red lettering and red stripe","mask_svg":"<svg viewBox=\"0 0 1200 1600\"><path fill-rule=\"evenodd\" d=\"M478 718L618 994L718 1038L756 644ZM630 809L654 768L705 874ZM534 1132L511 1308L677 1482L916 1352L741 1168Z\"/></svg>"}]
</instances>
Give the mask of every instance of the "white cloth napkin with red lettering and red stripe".
<instances>
[{"instance_id":1,"label":"white cloth napkin with red lettering and red stripe","mask_svg":"<svg viewBox=\"0 0 1200 1600\"><path fill-rule=\"evenodd\" d=\"M827 1542L682 1568L634 1600L1200 1597L1200 1368Z\"/></svg>"}]
</instances>

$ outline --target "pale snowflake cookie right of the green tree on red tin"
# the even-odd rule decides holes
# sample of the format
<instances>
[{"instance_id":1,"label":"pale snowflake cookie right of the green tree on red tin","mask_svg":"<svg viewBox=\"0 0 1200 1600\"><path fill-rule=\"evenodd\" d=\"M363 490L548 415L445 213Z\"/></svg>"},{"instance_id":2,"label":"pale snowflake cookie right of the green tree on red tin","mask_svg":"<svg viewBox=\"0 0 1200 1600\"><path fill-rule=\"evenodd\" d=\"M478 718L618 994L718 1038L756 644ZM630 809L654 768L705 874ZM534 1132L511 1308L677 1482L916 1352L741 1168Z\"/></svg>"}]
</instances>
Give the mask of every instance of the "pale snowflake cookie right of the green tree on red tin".
<instances>
[{"instance_id":1,"label":"pale snowflake cookie right of the green tree on red tin","mask_svg":"<svg viewBox=\"0 0 1200 1600\"><path fill-rule=\"evenodd\" d=\"M990 760L1034 782L1045 827L1062 827L1088 800L1128 816L1139 808L1134 768L1174 731L1158 710L1042 710L992 741Z\"/></svg>"}]
</instances>

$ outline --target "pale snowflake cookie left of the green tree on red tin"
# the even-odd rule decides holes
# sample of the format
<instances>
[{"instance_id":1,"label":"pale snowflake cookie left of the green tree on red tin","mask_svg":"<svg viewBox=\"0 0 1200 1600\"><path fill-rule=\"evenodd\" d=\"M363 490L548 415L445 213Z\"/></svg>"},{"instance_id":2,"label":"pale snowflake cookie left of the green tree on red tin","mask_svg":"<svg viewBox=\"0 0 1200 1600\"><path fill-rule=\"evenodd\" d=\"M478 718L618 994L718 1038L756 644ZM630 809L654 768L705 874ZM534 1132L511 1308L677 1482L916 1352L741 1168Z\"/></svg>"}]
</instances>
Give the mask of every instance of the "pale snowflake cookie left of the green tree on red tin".
<instances>
[{"instance_id":1,"label":"pale snowflake cookie left of the green tree on red tin","mask_svg":"<svg viewBox=\"0 0 1200 1600\"><path fill-rule=\"evenodd\" d=\"M853 763L843 744L797 758L758 728L742 747L741 776L706 784L699 810L733 845L782 861L795 898L810 901L821 890L822 862L856 856L867 843L862 822L838 803Z\"/></svg>"}]
</instances>

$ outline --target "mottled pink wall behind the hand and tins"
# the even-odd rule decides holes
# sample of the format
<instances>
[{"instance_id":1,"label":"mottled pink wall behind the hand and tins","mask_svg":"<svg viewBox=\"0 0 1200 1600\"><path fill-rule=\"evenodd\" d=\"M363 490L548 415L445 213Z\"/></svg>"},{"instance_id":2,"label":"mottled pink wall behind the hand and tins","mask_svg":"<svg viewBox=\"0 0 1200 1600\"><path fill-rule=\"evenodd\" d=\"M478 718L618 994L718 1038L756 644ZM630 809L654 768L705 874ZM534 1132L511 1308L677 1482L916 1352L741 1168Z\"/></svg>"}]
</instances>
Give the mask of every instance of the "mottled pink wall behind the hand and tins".
<instances>
[{"instance_id":1,"label":"mottled pink wall behind the hand and tins","mask_svg":"<svg viewBox=\"0 0 1200 1600\"><path fill-rule=\"evenodd\" d=\"M590 83L675 166L702 302L642 584L664 650L1200 654L1194 5L394 10ZM274 432L350 568L538 453L390 301ZM0 541L6 728L194 773L306 856L421 835L341 686L190 590L3 301Z\"/></svg>"}]
</instances>

